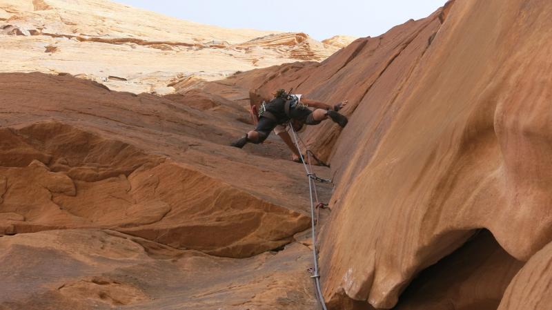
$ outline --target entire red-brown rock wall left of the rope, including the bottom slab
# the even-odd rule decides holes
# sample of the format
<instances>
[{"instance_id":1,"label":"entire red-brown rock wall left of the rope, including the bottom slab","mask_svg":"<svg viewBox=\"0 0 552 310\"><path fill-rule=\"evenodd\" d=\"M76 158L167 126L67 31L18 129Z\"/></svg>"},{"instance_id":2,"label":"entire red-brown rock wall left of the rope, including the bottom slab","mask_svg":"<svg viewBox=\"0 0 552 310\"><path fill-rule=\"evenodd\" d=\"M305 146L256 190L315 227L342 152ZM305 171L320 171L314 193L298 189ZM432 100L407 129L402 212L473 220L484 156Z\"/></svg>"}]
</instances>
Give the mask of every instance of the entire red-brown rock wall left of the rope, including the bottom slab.
<instances>
[{"instance_id":1,"label":"entire red-brown rock wall left of the rope, including the bottom slab","mask_svg":"<svg viewBox=\"0 0 552 310\"><path fill-rule=\"evenodd\" d=\"M313 307L302 166L228 146L239 104L41 73L0 93L0 309Z\"/></svg>"}]
</instances>

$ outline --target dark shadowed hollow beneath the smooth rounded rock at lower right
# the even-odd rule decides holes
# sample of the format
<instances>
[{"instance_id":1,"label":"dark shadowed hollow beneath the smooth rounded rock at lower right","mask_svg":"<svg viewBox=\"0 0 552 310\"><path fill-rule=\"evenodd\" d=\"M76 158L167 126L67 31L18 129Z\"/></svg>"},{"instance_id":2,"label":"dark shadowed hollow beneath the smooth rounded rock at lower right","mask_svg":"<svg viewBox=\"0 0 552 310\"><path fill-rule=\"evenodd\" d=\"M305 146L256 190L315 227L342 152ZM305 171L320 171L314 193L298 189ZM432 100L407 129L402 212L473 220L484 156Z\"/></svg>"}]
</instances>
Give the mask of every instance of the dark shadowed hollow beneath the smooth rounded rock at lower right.
<instances>
[{"instance_id":1,"label":"dark shadowed hollow beneath the smooth rounded rock at lower right","mask_svg":"<svg viewBox=\"0 0 552 310\"><path fill-rule=\"evenodd\" d=\"M480 229L408 284L395 310L495 310L524 262ZM477 289L473 289L477 288Z\"/></svg>"}]
</instances>

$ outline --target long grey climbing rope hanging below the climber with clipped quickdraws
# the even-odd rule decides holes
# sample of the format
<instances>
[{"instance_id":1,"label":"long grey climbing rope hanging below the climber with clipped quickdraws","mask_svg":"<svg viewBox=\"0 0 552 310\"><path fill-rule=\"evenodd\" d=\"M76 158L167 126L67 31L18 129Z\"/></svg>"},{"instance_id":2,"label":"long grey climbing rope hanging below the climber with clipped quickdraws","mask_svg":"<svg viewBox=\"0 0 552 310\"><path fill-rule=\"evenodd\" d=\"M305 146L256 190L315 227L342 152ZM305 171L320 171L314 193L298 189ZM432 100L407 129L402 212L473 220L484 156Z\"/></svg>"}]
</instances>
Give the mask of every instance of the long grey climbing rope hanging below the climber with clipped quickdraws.
<instances>
[{"instance_id":1,"label":"long grey climbing rope hanging below the climber with clipped quickdraws","mask_svg":"<svg viewBox=\"0 0 552 310\"><path fill-rule=\"evenodd\" d=\"M301 157L301 162L303 163L303 166L305 168L306 176L308 177L308 191L309 191L309 197L311 198L311 233L313 238L313 261L314 261L314 268L311 269L313 275L311 275L311 278L315 281L315 295L317 296L317 300L320 302L320 305L322 305L322 309L328 310L326 308L326 302L324 302L324 296L322 296L322 289L320 287L320 275L318 272L318 258L316 253L316 231L315 226L319 220L319 209L320 206L324 206L324 204L321 204L318 201L318 193L316 191L316 184L315 181L318 182L331 182L330 180L324 180L320 177L317 177L315 173L313 173L313 167L311 165L311 157L309 153L312 153L307 150L306 154L308 157L308 166L305 163L305 158L303 156L303 153L301 152L301 148L299 147L299 142L297 142L297 133L295 133L295 130L293 129L293 126L289 126L291 128L291 133L293 133L293 139L295 140L295 146L297 147L297 151L299 152L299 157ZM304 144L304 143L303 143ZM306 148L306 146L305 146ZM314 154L313 154L314 156ZM316 204L315 204L316 201ZM315 207L316 206L316 207ZM317 209L317 216L315 220L315 209Z\"/></svg>"}]
</instances>

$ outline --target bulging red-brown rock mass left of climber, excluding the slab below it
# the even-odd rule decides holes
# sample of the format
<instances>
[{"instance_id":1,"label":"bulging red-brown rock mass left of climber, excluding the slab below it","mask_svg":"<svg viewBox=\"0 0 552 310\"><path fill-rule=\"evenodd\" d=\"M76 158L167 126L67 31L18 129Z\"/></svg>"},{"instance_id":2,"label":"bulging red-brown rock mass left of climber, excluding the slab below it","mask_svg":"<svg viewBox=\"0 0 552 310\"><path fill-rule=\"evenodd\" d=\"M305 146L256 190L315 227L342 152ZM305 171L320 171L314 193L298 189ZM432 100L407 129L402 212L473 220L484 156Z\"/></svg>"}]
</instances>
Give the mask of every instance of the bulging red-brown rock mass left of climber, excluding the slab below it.
<instances>
[{"instance_id":1,"label":"bulging red-brown rock mass left of climber, excluding the slab below it","mask_svg":"<svg viewBox=\"0 0 552 310\"><path fill-rule=\"evenodd\" d=\"M110 228L175 248L244 257L282 246L309 226L307 197L289 195L306 191L300 170L254 159L254 165L266 162L264 169L273 165L266 186L281 188L266 195L242 151L220 145L239 135L239 121L225 119L227 112L208 115L68 76L1 75L0 88L3 109L11 112L0 131L2 211L24 219L10 215L6 232ZM226 155L213 155L222 149ZM224 170L243 172L218 174Z\"/></svg>"}]
</instances>

